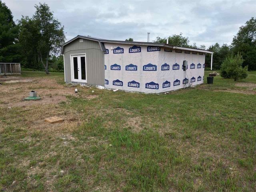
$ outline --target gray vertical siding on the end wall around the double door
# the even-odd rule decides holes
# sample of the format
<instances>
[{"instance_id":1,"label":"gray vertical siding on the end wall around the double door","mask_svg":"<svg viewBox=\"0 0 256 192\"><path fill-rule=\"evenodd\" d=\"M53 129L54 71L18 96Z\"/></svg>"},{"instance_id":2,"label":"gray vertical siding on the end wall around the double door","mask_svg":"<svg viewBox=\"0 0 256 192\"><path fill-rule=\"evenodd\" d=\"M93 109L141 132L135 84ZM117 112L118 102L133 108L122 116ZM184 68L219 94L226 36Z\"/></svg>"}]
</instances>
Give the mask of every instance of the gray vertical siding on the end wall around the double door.
<instances>
[{"instance_id":1,"label":"gray vertical siding on the end wall around the double door","mask_svg":"<svg viewBox=\"0 0 256 192\"><path fill-rule=\"evenodd\" d=\"M96 41L79 38L64 46L65 82L72 82L70 68L70 54L86 53L87 84L104 86L104 52Z\"/></svg>"}]
</instances>

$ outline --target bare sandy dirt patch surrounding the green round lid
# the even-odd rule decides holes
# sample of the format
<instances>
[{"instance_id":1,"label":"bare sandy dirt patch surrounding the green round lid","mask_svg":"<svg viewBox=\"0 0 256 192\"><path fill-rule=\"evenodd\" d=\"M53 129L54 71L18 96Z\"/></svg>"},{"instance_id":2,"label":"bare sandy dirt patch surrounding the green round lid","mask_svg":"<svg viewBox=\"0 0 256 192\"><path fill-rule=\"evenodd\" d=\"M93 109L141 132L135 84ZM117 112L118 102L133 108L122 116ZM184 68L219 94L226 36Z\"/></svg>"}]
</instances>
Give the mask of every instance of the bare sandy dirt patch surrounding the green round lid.
<instances>
[{"instance_id":1,"label":"bare sandy dirt patch surrounding the green round lid","mask_svg":"<svg viewBox=\"0 0 256 192\"><path fill-rule=\"evenodd\" d=\"M0 107L56 104L66 101L66 96L76 96L74 88L64 87L52 79L8 76L8 78L1 78L1 81L9 83L1 86ZM40 96L42 100L24 101L31 90L36 91L37 96Z\"/></svg>"}]
</instances>

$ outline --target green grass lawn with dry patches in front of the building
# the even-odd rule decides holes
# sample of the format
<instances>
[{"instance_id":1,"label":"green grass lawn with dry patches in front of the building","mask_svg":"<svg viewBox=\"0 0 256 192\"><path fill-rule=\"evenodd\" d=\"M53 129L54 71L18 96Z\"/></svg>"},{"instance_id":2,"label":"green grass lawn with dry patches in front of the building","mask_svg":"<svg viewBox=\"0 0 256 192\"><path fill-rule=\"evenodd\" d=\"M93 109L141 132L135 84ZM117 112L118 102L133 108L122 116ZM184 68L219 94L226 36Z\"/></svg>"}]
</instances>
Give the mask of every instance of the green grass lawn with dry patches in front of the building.
<instances>
[{"instance_id":1,"label":"green grass lawn with dry patches in front of the building","mask_svg":"<svg viewBox=\"0 0 256 192\"><path fill-rule=\"evenodd\" d=\"M256 191L255 89L206 84L209 72L169 94L78 86L59 104L0 107L0 191ZM256 83L256 72L238 82ZM78 122L37 124L55 115Z\"/></svg>"}]
</instances>

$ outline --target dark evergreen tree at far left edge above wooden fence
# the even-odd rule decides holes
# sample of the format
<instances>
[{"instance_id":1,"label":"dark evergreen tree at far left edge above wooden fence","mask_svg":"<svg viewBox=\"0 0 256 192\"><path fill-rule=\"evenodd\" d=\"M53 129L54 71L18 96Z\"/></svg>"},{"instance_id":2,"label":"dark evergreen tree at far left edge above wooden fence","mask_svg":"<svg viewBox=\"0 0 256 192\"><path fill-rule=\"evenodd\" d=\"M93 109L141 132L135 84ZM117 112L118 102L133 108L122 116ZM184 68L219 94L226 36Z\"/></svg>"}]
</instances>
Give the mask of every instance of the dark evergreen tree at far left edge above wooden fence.
<instances>
[{"instance_id":1,"label":"dark evergreen tree at far left edge above wooden fence","mask_svg":"<svg viewBox=\"0 0 256 192\"><path fill-rule=\"evenodd\" d=\"M18 26L12 12L0 0L0 62L20 62L17 49Z\"/></svg>"}]
</instances>

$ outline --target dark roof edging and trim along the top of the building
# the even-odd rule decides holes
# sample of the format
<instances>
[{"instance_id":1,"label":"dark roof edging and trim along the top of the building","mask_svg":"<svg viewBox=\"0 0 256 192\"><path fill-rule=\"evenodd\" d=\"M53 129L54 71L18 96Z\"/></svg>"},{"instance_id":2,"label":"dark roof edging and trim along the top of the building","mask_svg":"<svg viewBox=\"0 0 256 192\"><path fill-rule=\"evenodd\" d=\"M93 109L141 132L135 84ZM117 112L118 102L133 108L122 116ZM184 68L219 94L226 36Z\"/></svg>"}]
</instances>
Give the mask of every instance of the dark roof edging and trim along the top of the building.
<instances>
[{"instance_id":1,"label":"dark roof edging and trim along the top of the building","mask_svg":"<svg viewBox=\"0 0 256 192\"><path fill-rule=\"evenodd\" d=\"M97 41L100 44L100 48L102 51L106 51L106 48L104 46L104 43L115 43L115 44L130 44L130 45L145 45L145 46L159 46L159 47L166 47L166 48L173 48L173 49L180 49L180 50L191 50L196 52L203 52L203 53L210 53L213 54L211 51L207 50L201 50L201 49L194 49L194 48L187 48L187 47L180 47L180 46L174 46L170 44L165 43L152 43L152 42L136 42L136 41L118 41L118 40L106 40L106 39L100 39L100 38L94 38L94 37L88 37L88 36L81 36L78 35L75 38L69 40L68 42L64 43L62 45L61 54L63 54L63 47L69 44L70 42L76 40L77 38L82 38L86 40L92 40Z\"/></svg>"}]
</instances>

